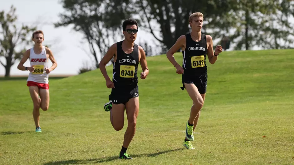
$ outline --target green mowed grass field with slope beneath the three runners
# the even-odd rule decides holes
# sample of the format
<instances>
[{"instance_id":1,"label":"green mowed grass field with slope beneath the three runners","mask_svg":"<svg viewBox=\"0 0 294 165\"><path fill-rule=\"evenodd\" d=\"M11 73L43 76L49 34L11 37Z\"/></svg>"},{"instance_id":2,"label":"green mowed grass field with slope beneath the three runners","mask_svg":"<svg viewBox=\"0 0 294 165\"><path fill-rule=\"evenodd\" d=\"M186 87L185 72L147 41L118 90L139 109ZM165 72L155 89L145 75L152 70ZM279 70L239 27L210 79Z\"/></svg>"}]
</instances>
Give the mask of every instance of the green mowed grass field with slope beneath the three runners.
<instances>
[{"instance_id":1,"label":"green mowed grass field with slope beneath the three runners","mask_svg":"<svg viewBox=\"0 0 294 165\"><path fill-rule=\"evenodd\" d=\"M233 51L213 65L207 61L195 150L182 145L192 100L180 89L181 75L165 55L148 57L130 161L118 159L127 121L123 130L112 128L103 109L110 89L99 69L49 78L42 133L35 132L26 79L1 79L0 164L294 164L293 54ZM182 55L175 57L181 64ZM111 76L112 66L107 69Z\"/></svg>"}]
</instances>

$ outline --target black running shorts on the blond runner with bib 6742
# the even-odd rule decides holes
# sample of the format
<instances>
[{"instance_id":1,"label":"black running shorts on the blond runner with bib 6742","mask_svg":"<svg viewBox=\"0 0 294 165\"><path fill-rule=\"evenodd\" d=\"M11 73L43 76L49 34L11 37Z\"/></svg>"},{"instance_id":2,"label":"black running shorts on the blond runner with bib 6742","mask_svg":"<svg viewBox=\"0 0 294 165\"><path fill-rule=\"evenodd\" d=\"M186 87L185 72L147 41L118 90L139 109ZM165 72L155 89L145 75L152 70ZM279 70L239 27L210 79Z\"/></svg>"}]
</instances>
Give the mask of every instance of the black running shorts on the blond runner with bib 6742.
<instances>
[{"instance_id":1,"label":"black running shorts on the blond runner with bib 6742","mask_svg":"<svg viewBox=\"0 0 294 165\"><path fill-rule=\"evenodd\" d=\"M182 75L182 83L183 87L181 89L184 91L185 84L191 84L193 83L197 88L200 94L206 93L206 87L207 87L207 74L198 75L198 76L191 76L190 74L183 74Z\"/></svg>"}]
</instances>

